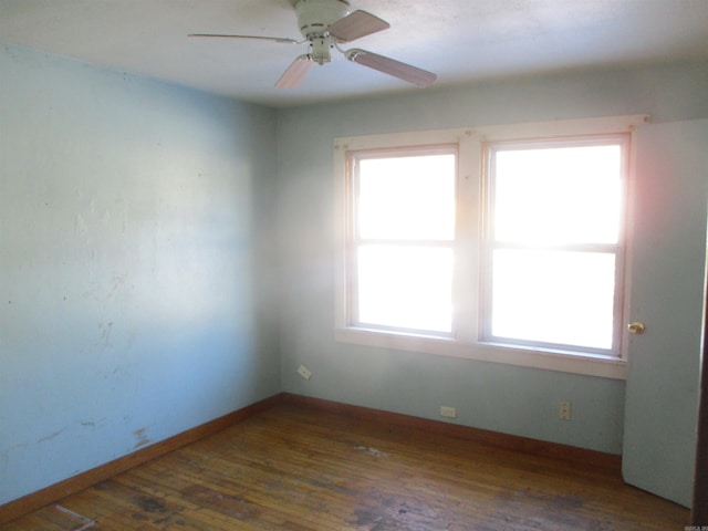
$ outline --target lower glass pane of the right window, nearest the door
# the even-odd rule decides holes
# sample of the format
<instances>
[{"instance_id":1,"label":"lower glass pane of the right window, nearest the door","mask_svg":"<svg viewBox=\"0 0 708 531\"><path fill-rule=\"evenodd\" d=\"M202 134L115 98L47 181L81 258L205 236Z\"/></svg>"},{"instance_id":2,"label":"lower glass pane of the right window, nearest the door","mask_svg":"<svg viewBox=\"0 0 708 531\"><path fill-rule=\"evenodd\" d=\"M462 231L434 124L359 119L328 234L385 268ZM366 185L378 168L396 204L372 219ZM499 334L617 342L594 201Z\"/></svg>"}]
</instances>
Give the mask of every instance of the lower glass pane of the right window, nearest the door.
<instances>
[{"instance_id":1,"label":"lower glass pane of the right window, nearest the door","mask_svg":"<svg viewBox=\"0 0 708 531\"><path fill-rule=\"evenodd\" d=\"M497 250L493 336L612 348L615 257Z\"/></svg>"}]
</instances>

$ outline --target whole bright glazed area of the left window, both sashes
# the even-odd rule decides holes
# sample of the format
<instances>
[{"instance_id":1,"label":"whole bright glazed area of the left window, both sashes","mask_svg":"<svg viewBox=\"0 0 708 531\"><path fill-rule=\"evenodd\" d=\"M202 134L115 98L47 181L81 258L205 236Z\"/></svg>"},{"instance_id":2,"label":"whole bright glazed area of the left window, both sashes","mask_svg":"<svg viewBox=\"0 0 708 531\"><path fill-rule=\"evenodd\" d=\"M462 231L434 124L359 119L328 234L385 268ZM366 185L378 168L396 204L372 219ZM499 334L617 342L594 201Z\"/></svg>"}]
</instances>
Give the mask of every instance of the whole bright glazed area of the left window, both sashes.
<instances>
[{"instance_id":1,"label":"whole bright glazed area of the left window, both sashes","mask_svg":"<svg viewBox=\"0 0 708 531\"><path fill-rule=\"evenodd\" d=\"M449 334L455 152L361 154L354 162L356 324Z\"/></svg>"}]
</instances>

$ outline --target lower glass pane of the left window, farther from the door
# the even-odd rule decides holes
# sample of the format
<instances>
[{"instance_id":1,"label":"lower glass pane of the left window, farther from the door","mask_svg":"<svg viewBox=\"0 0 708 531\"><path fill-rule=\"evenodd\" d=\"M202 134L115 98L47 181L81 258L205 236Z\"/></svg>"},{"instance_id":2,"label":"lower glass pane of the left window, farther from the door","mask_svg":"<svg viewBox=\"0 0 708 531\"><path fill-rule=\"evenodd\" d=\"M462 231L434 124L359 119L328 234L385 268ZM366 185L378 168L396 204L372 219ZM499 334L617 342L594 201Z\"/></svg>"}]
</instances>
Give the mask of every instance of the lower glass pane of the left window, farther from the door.
<instances>
[{"instance_id":1,"label":"lower glass pane of the left window, farther from the door","mask_svg":"<svg viewBox=\"0 0 708 531\"><path fill-rule=\"evenodd\" d=\"M358 321L382 326L451 332L452 250L362 246Z\"/></svg>"}]
</instances>

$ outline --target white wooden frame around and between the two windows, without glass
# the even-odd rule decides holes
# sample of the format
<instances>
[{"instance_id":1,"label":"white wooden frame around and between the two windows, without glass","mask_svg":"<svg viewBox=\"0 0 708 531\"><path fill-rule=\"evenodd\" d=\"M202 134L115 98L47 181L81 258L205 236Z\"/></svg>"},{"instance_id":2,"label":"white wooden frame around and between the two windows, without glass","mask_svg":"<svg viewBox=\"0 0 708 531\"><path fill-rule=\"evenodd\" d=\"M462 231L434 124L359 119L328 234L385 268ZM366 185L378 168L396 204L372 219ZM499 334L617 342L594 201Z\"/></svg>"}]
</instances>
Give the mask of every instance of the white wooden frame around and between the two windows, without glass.
<instances>
[{"instance_id":1,"label":"white wooden frame around and between the two windows, without glass","mask_svg":"<svg viewBox=\"0 0 708 531\"><path fill-rule=\"evenodd\" d=\"M626 184L626 217L631 235L632 181L634 176L633 132L648 123L646 115L581 118L543 123L494 125L473 128L414 132L389 135L368 135L337 138L334 144L334 176L336 200L335 260L335 341L386 350L402 350L434 355L479 360L527 367L561 371L615 379L626 378L627 335L622 332L620 355L593 352L563 352L538 346L511 345L482 340L482 209L485 208L483 171L485 146L488 143L563 139L594 135L629 135L629 170ZM450 337L426 336L396 331L357 327L348 319L347 283L347 154L358 150L409 148L415 146L458 146L458 231L456 246L455 293L472 296L455 301L454 334ZM472 208L473 207L473 208ZM625 242L623 316L628 315L631 290L631 239ZM624 319L624 317L623 317ZM624 321L622 321L624 322Z\"/></svg>"}]
</instances>

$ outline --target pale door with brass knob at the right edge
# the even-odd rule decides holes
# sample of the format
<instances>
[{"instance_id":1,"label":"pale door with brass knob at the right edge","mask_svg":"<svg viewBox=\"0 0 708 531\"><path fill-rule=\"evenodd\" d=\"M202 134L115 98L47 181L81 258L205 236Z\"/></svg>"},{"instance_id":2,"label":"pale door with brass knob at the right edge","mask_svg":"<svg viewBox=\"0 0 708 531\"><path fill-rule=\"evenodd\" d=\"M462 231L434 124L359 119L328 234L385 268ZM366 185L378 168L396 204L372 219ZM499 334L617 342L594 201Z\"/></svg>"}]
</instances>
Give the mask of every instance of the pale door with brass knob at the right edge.
<instances>
[{"instance_id":1,"label":"pale door with brass knob at the right edge","mask_svg":"<svg viewBox=\"0 0 708 531\"><path fill-rule=\"evenodd\" d=\"M689 507L706 270L708 119L636 132L623 475Z\"/></svg>"}]
</instances>

